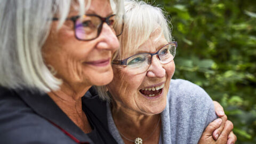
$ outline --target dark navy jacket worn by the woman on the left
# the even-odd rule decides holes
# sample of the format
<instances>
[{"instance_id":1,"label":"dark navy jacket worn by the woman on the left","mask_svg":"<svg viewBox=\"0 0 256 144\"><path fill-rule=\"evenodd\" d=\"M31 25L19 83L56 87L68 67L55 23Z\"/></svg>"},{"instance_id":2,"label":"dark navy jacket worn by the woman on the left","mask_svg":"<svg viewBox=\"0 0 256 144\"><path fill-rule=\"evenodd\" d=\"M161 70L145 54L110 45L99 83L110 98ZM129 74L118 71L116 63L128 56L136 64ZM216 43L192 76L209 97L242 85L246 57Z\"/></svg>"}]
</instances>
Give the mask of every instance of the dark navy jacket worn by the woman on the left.
<instances>
[{"instance_id":1,"label":"dark navy jacket worn by the woman on the left","mask_svg":"<svg viewBox=\"0 0 256 144\"><path fill-rule=\"evenodd\" d=\"M93 128L89 134L79 129L47 94L0 87L0 143L116 143L108 132L105 103L98 97L83 97L82 101Z\"/></svg>"}]
</instances>

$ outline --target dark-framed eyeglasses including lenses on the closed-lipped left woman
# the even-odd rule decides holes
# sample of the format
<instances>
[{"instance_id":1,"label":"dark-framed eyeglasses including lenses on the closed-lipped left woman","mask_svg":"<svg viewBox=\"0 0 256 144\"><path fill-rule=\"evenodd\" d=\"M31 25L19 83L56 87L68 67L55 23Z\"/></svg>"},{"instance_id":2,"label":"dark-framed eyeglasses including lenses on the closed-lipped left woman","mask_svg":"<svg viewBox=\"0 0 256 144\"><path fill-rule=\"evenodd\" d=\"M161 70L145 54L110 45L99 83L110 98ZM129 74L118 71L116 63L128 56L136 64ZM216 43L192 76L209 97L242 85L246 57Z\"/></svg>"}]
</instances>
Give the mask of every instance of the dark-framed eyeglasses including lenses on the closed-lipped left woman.
<instances>
[{"instance_id":1,"label":"dark-framed eyeglasses including lenses on the closed-lipped left woman","mask_svg":"<svg viewBox=\"0 0 256 144\"><path fill-rule=\"evenodd\" d=\"M52 20L56 21L59 18L53 18ZM66 20L74 22L75 37L81 41L90 41L97 38L101 33L104 22L107 23L116 36L123 33L123 15L112 14L103 18L97 14L84 14L82 17L77 15Z\"/></svg>"}]
</instances>

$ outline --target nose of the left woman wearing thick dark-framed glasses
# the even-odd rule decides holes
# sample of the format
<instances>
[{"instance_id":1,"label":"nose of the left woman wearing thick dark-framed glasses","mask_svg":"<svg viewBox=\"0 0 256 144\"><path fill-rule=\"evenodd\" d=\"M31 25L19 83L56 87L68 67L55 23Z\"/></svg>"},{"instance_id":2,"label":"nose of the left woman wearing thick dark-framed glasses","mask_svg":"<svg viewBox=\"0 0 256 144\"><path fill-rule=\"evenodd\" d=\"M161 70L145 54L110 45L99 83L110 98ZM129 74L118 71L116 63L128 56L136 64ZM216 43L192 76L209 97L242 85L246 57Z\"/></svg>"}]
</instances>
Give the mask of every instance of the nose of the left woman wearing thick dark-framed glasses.
<instances>
[{"instance_id":1,"label":"nose of the left woman wearing thick dark-framed glasses","mask_svg":"<svg viewBox=\"0 0 256 144\"><path fill-rule=\"evenodd\" d=\"M116 51L119 48L118 39L114 31L107 25L106 22L103 23L98 40L99 40L99 43L97 44L98 49Z\"/></svg>"}]
</instances>

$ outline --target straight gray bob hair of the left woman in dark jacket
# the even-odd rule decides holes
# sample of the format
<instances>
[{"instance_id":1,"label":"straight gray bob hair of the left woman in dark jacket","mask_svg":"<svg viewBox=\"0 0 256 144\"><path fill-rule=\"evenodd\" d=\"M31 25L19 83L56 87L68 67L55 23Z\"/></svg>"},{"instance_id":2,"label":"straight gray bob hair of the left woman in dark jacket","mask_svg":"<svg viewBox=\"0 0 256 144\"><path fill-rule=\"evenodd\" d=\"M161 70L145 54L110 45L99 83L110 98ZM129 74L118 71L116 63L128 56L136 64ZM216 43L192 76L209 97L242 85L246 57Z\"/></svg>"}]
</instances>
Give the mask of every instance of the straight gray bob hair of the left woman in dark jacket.
<instances>
[{"instance_id":1,"label":"straight gray bob hair of the left woman in dark jacket","mask_svg":"<svg viewBox=\"0 0 256 144\"><path fill-rule=\"evenodd\" d=\"M41 92L58 90L61 79L53 76L42 57L54 15L60 28L70 7L83 15L91 0L3 0L0 1L0 86ZM123 1L110 0L115 13L123 12Z\"/></svg>"}]
</instances>

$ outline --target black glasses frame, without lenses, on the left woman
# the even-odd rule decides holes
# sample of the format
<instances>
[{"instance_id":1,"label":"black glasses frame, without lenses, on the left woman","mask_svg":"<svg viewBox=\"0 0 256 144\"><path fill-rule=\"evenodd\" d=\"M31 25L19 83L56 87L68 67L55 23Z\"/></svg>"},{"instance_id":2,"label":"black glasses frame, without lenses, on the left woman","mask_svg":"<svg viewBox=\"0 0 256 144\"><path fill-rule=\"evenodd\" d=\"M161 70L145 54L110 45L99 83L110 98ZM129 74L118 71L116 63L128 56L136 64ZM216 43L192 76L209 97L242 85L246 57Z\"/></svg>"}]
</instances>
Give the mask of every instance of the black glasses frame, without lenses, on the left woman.
<instances>
[{"instance_id":1,"label":"black glasses frame, without lenses, on the left woman","mask_svg":"<svg viewBox=\"0 0 256 144\"><path fill-rule=\"evenodd\" d=\"M109 15L108 17L100 17L100 15L97 15L97 14L84 14L84 15L89 16L89 17L91 17L91 16L92 16L92 17L98 17L98 18L101 20L101 23L100 23L100 25L99 25L99 28L98 28L98 31L97 31L97 36L96 36L95 38L91 38L91 39L81 39L81 38L78 38L78 37L76 36L76 21L77 21L77 19L79 19L81 16L80 16L80 15L76 15L76 16L74 16L74 17L67 18L66 20L71 20L71 21L73 21L73 23L74 23L75 37L76 37L76 39L78 39L79 41L91 41L91 40L93 40L93 39L98 38L99 35L100 35L100 33L101 33L103 23L106 22L107 25L109 26L109 25L110 25L110 23L109 23L109 18L113 17L113 16L116 15L116 14L111 14L111 15ZM124 15L122 16L122 19L123 19L122 31L121 31L120 34L118 34L118 35L116 35L116 36L120 36L120 35L122 35L122 33L123 33L123 29L124 29ZM52 20L53 20L53 21L58 21L59 18L52 18Z\"/></svg>"}]
</instances>

